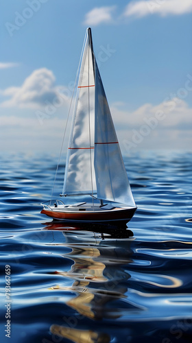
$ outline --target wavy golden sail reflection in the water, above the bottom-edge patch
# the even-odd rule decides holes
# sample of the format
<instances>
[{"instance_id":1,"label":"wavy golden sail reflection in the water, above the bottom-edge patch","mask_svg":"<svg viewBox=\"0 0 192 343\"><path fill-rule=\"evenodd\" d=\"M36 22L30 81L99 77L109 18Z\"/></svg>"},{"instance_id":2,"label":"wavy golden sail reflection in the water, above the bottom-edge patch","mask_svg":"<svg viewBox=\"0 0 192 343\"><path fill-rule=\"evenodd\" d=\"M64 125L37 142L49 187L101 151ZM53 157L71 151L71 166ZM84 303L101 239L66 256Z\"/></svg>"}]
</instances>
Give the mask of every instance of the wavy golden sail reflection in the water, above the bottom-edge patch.
<instances>
[{"instance_id":1,"label":"wavy golden sail reflection in the water, above the bottom-edge patch","mask_svg":"<svg viewBox=\"0 0 192 343\"><path fill-rule=\"evenodd\" d=\"M125 297L123 294L128 288L121 286L120 283L122 279L129 279L130 275L123 270L116 270L122 261L119 263L116 259L112 260L111 248L108 250L108 254L104 255L105 248L75 246L67 255L74 262L71 270L59 273L74 280L71 290L76 296L71 298L67 305L88 318L121 316L117 309L108 309L106 304ZM123 263L129 261L130 259L123 260Z\"/></svg>"}]
</instances>

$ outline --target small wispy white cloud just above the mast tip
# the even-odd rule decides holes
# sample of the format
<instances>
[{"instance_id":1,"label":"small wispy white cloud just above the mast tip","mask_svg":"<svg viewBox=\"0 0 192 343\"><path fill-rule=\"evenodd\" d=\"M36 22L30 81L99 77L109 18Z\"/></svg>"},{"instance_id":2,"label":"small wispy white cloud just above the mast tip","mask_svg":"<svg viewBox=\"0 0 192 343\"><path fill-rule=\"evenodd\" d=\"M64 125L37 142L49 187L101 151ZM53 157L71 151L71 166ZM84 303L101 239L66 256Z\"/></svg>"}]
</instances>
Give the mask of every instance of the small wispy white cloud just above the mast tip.
<instances>
[{"instance_id":1,"label":"small wispy white cloud just above the mast tip","mask_svg":"<svg viewBox=\"0 0 192 343\"><path fill-rule=\"evenodd\" d=\"M112 12L116 6L95 7L85 16L84 24L96 26L112 22Z\"/></svg>"}]
</instances>

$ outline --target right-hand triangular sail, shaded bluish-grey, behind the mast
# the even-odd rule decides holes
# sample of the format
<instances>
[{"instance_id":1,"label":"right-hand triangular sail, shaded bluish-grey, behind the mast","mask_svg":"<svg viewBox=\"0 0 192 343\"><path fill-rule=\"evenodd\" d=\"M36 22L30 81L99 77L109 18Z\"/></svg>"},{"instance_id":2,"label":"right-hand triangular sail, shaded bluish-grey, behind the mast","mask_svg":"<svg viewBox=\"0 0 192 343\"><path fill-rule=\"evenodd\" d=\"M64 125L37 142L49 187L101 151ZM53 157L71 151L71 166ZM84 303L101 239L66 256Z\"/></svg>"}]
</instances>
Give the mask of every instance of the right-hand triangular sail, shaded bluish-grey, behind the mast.
<instances>
[{"instance_id":1,"label":"right-hand triangular sail, shaded bluish-grey, behind the mast","mask_svg":"<svg viewBox=\"0 0 192 343\"><path fill-rule=\"evenodd\" d=\"M94 165L97 198L136 206L96 62Z\"/></svg>"}]
</instances>

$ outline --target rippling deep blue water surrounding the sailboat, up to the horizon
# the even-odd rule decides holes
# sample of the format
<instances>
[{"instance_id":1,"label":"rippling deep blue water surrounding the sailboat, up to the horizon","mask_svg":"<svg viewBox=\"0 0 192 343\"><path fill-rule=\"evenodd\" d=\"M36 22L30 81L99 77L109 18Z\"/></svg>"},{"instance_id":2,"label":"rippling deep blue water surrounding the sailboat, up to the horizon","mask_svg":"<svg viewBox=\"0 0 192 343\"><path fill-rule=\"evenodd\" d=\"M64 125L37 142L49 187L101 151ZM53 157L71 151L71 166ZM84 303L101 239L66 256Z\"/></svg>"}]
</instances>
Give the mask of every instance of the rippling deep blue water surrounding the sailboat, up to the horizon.
<instances>
[{"instance_id":1,"label":"rippling deep blue water surrounding the sailboat, up to the horizon","mask_svg":"<svg viewBox=\"0 0 192 343\"><path fill-rule=\"evenodd\" d=\"M40 214L56 160L1 156L1 342L191 342L192 154L125 157L138 209L110 230Z\"/></svg>"}]
</instances>

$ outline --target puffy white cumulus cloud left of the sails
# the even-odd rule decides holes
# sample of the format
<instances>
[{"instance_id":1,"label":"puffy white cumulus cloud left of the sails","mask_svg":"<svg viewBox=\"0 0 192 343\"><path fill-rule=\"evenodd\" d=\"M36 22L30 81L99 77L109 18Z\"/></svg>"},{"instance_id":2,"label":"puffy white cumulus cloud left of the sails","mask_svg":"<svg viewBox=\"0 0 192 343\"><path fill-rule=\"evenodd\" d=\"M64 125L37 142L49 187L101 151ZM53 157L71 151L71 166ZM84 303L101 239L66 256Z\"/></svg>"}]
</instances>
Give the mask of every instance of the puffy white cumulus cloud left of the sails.
<instances>
[{"instance_id":1,"label":"puffy white cumulus cloud left of the sails","mask_svg":"<svg viewBox=\"0 0 192 343\"><path fill-rule=\"evenodd\" d=\"M54 102L68 102L66 94L69 91L64 86L56 86L55 81L52 71L46 68L36 69L20 87L12 86L1 91L1 95L10 97L1 103L1 107L42 108Z\"/></svg>"}]
</instances>

